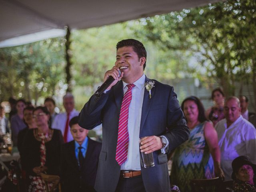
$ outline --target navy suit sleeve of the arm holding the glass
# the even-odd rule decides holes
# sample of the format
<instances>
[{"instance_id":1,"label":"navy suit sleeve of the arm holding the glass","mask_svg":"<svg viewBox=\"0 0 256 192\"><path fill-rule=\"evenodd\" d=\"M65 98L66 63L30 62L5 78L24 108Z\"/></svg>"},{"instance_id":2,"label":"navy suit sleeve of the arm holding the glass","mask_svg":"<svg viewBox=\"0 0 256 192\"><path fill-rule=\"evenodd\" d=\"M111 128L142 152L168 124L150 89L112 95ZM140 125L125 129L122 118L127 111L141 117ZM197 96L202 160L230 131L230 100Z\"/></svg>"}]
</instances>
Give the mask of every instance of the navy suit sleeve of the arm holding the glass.
<instances>
[{"instance_id":1,"label":"navy suit sleeve of the arm holding the glass","mask_svg":"<svg viewBox=\"0 0 256 192\"><path fill-rule=\"evenodd\" d=\"M171 150L188 140L190 134L188 126L186 125L185 116L181 110L173 87L171 87L169 94L167 128L168 132L166 132L164 136L169 140L168 153L170 153Z\"/></svg>"}]
</instances>

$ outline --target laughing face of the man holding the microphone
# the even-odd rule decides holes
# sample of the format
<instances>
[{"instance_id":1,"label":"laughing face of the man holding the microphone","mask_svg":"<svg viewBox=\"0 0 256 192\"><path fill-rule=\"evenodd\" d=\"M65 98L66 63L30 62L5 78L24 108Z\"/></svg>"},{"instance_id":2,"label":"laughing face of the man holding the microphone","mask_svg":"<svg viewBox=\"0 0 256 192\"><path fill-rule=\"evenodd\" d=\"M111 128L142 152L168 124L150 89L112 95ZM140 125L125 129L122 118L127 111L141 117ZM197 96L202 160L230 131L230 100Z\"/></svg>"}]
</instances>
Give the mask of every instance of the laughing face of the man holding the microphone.
<instances>
[{"instance_id":1,"label":"laughing face of the man holding the microphone","mask_svg":"<svg viewBox=\"0 0 256 192\"><path fill-rule=\"evenodd\" d=\"M131 46L121 47L116 52L115 66L124 72L122 80L126 83L133 83L143 75L143 65L146 58L138 58Z\"/></svg>"}]
</instances>

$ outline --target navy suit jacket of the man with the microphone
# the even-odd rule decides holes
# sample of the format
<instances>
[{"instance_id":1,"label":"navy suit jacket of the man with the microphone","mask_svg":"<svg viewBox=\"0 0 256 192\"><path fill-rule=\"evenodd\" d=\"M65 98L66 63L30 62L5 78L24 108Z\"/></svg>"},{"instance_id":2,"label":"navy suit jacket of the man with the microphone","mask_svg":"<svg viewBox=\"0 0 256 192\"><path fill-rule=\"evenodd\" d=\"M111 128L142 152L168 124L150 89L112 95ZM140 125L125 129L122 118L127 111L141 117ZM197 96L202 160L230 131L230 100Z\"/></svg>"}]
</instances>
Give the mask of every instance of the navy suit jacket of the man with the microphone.
<instances>
[{"instance_id":1,"label":"navy suit jacket of the man with the microphone","mask_svg":"<svg viewBox=\"0 0 256 192\"><path fill-rule=\"evenodd\" d=\"M146 82L148 81L150 79L146 77ZM149 98L149 92L144 89L140 137L164 135L169 141L170 152L188 139L189 129L173 87L154 81L152 98ZM90 130L102 123L102 150L94 187L97 192L114 192L120 177L120 166L115 157L123 96L123 83L120 81L100 98L93 95L79 114L78 124L83 128ZM146 191L168 192L170 180L167 154L161 154L158 150L153 152L153 156L154 167L141 166Z\"/></svg>"}]
</instances>

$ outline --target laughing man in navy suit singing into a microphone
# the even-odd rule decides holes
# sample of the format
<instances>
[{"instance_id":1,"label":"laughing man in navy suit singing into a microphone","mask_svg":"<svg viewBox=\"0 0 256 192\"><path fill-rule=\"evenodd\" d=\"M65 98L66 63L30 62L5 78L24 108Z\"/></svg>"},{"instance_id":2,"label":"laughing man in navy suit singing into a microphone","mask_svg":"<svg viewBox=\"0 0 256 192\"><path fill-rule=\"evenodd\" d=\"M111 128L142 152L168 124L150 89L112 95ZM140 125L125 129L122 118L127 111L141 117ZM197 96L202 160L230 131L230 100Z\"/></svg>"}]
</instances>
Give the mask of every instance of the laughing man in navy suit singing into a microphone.
<instances>
[{"instance_id":1,"label":"laughing man in navy suit singing into a microphone","mask_svg":"<svg viewBox=\"0 0 256 192\"><path fill-rule=\"evenodd\" d=\"M83 128L102 123L94 188L97 192L168 192L167 154L189 136L184 114L172 86L145 76L146 49L141 42L122 40L116 49L115 66L104 76L104 81L112 76L114 82L100 97L93 95L79 114ZM139 148L139 138L144 136L148 137ZM140 151L153 152L153 167L141 166Z\"/></svg>"}]
</instances>

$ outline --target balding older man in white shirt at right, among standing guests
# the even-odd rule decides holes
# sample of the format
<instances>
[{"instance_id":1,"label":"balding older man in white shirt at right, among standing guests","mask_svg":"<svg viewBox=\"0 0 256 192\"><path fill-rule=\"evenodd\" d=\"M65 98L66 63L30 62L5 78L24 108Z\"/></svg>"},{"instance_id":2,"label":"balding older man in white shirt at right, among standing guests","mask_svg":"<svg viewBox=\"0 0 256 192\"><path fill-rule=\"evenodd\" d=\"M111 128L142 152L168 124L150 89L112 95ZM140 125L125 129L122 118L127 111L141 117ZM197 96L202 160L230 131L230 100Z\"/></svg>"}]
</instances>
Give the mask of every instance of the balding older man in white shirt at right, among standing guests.
<instances>
[{"instance_id":1,"label":"balding older man in white shirt at right, among standing guests","mask_svg":"<svg viewBox=\"0 0 256 192\"><path fill-rule=\"evenodd\" d=\"M240 101L230 97L224 105L225 119L215 126L221 152L221 168L225 180L231 180L232 161L241 155L249 156L256 164L256 129L241 115Z\"/></svg>"}]
</instances>

